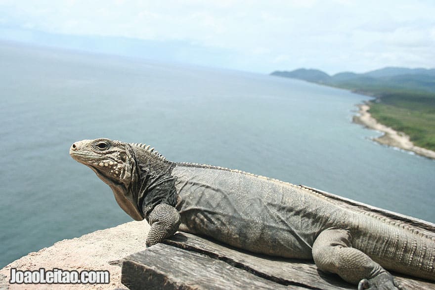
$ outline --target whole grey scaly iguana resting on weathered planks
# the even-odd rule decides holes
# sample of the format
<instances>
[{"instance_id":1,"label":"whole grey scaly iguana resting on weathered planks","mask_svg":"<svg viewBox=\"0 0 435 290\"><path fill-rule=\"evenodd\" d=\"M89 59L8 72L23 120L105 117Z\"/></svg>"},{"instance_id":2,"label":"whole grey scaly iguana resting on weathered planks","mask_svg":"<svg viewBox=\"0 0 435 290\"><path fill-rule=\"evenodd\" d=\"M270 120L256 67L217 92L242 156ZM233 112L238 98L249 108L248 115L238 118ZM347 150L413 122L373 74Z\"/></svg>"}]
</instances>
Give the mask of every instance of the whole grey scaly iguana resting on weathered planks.
<instances>
[{"instance_id":1,"label":"whole grey scaly iguana resting on weathered planks","mask_svg":"<svg viewBox=\"0 0 435 290\"><path fill-rule=\"evenodd\" d=\"M435 281L435 233L318 192L217 166L171 162L149 145L106 138L75 142L70 155L113 190L146 246L185 231L273 256L313 259L358 289L399 289L385 269Z\"/></svg>"}]
</instances>

